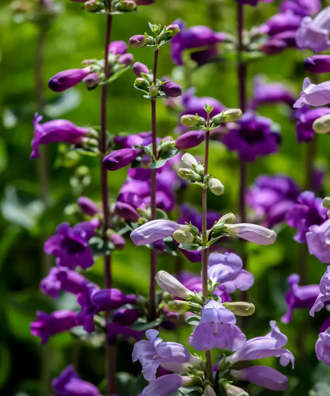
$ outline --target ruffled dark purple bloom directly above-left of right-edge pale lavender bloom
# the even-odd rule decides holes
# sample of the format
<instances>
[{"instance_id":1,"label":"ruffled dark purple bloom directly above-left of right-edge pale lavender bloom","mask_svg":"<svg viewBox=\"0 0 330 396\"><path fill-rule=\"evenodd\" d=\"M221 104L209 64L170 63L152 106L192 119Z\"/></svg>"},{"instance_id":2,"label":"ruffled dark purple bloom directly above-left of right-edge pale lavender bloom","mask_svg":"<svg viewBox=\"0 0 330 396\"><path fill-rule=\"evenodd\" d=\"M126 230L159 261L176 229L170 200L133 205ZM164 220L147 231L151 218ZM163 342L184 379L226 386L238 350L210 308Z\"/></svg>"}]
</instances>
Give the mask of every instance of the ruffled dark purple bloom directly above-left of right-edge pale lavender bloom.
<instances>
[{"instance_id":1,"label":"ruffled dark purple bloom directly above-left of right-edge pale lavender bloom","mask_svg":"<svg viewBox=\"0 0 330 396\"><path fill-rule=\"evenodd\" d=\"M297 201L300 193L295 181L285 175L261 175L246 194L246 201L258 216L264 217L263 225L274 227L285 219L286 212Z\"/></svg>"}]
</instances>

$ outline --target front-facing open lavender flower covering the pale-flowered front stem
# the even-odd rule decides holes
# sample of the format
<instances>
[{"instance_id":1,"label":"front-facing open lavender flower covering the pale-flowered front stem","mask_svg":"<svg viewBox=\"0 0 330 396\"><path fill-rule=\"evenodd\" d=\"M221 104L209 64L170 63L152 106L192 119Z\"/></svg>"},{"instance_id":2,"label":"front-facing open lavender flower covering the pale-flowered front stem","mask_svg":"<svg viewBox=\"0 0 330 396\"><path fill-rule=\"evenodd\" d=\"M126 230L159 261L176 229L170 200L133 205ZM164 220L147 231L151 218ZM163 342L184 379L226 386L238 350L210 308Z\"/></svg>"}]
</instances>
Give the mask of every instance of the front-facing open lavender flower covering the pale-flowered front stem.
<instances>
[{"instance_id":1,"label":"front-facing open lavender flower covering the pale-flowered front stem","mask_svg":"<svg viewBox=\"0 0 330 396\"><path fill-rule=\"evenodd\" d=\"M237 350L246 343L246 337L235 323L236 317L232 311L211 300L203 306L201 320L190 335L189 344L196 350Z\"/></svg>"}]
</instances>

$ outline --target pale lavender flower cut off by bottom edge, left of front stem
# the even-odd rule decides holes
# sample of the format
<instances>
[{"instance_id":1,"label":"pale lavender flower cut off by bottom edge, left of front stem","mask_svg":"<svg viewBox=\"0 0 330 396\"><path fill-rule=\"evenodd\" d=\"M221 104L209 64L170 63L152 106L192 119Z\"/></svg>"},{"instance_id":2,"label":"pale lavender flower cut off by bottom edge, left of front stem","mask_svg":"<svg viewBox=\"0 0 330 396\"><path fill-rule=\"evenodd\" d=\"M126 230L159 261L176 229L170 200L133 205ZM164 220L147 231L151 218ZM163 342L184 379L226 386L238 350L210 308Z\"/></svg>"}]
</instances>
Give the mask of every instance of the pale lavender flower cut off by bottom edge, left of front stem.
<instances>
[{"instance_id":1,"label":"pale lavender flower cut off by bottom edge, left of front stem","mask_svg":"<svg viewBox=\"0 0 330 396\"><path fill-rule=\"evenodd\" d=\"M179 388L192 384L190 377L183 377L178 374L167 374L152 381L145 387L141 396L171 396Z\"/></svg>"}]
</instances>

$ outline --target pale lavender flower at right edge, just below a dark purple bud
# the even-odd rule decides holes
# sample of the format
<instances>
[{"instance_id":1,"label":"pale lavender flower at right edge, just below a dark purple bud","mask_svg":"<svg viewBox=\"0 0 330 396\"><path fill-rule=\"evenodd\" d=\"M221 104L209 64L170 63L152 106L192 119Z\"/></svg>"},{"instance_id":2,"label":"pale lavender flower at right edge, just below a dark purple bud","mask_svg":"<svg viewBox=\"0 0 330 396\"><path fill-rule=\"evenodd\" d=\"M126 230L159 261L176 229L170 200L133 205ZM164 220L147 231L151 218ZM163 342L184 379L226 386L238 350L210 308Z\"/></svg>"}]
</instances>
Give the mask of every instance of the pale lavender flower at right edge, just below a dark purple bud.
<instances>
[{"instance_id":1,"label":"pale lavender flower at right edge, just below a dark purple bud","mask_svg":"<svg viewBox=\"0 0 330 396\"><path fill-rule=\"evenodd\" d=\"M293 107L299 108L304 104L324 106L328 103L330 103L330 81L325 81L321 84L312 84L310 79L306 77L302 84L300 98L293 104Z\"/></svg>"}]
</instances>

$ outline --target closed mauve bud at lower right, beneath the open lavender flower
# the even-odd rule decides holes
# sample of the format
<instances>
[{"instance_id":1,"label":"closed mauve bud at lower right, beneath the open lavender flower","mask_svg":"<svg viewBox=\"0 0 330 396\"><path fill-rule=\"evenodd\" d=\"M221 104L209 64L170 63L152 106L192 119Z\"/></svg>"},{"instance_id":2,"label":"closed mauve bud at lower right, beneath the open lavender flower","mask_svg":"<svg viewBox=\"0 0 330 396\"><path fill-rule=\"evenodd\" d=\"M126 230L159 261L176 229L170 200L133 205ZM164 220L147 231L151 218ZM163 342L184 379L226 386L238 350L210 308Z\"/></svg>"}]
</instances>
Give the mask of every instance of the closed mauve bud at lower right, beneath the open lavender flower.
<instances>
[{"instance_id":1,"label":"closed mauve bud at lower right, beneath the open lavender flower","mask_svg":"<svg viewBox=\"0 0 330 396\"><path fill-rule=\"evenodd\" d=\"M231 370L231 375L239 381L247 381L272 391L285 391L288 378L267 366L251 366L242 370Z\"/></svg>"}]
</instances>

